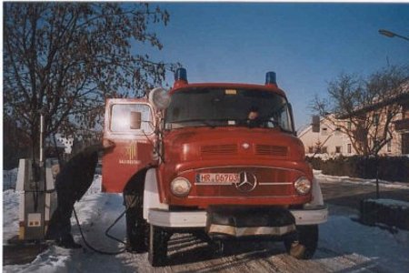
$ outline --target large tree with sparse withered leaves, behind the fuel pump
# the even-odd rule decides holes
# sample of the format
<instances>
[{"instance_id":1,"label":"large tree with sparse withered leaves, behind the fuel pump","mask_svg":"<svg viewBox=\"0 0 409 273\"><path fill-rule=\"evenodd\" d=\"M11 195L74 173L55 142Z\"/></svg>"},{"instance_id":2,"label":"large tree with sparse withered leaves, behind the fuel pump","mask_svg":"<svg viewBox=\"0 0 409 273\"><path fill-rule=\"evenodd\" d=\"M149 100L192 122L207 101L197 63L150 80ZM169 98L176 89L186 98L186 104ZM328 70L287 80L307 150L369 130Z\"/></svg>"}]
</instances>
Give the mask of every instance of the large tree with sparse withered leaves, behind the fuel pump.
<instances>
[{"instance_id":1,"label":"large tree with sparse withered leaves, behind the fuel pump","mask_svg":"<svg viewBox=\"0 0 409 273\"><path fill-rule=\"evenodd\" d=\"M4 115L25 130L34 151L39 109L47 109L45 136L75 136L101 123L106 97L143 96L175 68L139 51L163 47L151 31L168 23L159 7L26 2L4 8Z\"/></svg>"}]
</instances>

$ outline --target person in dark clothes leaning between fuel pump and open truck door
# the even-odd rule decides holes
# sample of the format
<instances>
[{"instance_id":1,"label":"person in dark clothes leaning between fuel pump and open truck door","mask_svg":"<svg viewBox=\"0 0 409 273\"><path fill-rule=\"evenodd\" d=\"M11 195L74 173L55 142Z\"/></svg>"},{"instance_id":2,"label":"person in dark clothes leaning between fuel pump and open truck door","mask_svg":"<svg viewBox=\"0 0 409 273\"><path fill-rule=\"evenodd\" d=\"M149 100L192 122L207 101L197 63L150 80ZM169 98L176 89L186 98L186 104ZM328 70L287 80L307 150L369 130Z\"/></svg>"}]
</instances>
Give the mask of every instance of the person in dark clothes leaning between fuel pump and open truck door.
<instances>
[{"instance_id":1,"label":"person in dark clothes leaning between fuel pump and open truck door","mask_svg":"<svg viewBox=\"0 0 409 273\"><path fill-rule=\"evenodd\" d=\"M71 215L75 201L84 196L94 180L98 152L114 147L110 141L85 147L62 168L55 180L57 207L50 219L45 238L55 239L63 248L81 248L71 235Z\"/></svg>"}]
</instances>

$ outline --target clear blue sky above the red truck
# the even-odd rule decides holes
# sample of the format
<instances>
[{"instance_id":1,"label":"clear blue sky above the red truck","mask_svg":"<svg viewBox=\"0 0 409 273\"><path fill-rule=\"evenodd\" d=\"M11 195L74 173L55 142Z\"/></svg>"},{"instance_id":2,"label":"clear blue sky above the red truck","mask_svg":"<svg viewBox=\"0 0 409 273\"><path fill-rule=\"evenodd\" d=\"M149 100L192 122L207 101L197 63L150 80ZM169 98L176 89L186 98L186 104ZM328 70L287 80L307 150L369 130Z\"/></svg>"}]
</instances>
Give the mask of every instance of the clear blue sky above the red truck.
<instances>
[{"instance_id":1,"label":"clear blue sky above the red truck","mask_svg":"<svg viewBox=\"0 0 409 273\"><path fill-rule=\"evenodd\" d=\"M294 107L295 127L311 122L315 94L341 73L365 76L409 64L409 4L152 3L170 23L153 28L165 45L153 59L180 62L189 82L264 84L277 73ZM167 77L173 83L173 75Z\"/></svg>"}]
</instances>

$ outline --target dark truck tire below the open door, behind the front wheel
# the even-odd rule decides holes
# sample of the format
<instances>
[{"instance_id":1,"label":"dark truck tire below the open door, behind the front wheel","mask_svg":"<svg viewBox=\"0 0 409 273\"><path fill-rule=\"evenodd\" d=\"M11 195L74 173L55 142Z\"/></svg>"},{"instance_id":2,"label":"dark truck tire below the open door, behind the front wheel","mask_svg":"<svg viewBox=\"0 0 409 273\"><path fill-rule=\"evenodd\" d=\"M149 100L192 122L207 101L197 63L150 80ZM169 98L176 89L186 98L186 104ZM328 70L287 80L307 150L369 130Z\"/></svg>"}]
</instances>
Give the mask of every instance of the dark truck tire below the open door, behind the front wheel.
<instances>
[{"instance_id":1,"label":"dark truck tire below the open door, behind the front wheel","mask_svg":"<svg viewBox=\"0 0 409 273\"><path fill-rule=\"evenodd\" d=\"M125 216L126 249L131 252L144 253L148 250L149 227L143 217L142 197L128 196L126 205L131 206L128 207Z\"/></svg>"}]
</instances>

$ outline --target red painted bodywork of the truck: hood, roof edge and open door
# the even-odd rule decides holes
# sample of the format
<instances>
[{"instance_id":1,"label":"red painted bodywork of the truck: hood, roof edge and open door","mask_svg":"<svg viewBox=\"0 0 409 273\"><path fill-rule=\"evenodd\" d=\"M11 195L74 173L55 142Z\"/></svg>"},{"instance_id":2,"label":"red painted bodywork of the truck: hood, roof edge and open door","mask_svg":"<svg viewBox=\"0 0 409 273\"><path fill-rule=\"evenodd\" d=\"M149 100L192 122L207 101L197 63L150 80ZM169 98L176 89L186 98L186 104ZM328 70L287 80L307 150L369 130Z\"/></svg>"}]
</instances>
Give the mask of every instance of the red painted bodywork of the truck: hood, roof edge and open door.
<instances>
[{"instance_id":1,"label":"red painted bodywork of the truck: hood, roof edge and open door","mask_svg":"<svg viewBox=\"0 0 409 273\"><path fill-rule=\"evenodd\" d=\"M189 88L222 87L268 91L285 97L274 84L187 84L175 82L172 96ZM111 130L111 107L115 104L145 103L146 99L108 100L105 113L105 138L115 142L115 149L103 160L103 190L122 192L126 183L140 169L155 165L152 158L155 135L118 134ZM155 123L155 116L152 116ZM311 194L295 192L298 177L313 179L312 169L304 162L301 141L275 128L184 127L163 133L165 163L157 166L161 202L175 206L207 207L217 204L276 205L304 204ZM205 185L198 176L206 174L256 174L254 190L243 192L230 185ZM188 197L175 197L170 183L175 177L185 177L193 184Z\"/></svg>"}]
</instances>

